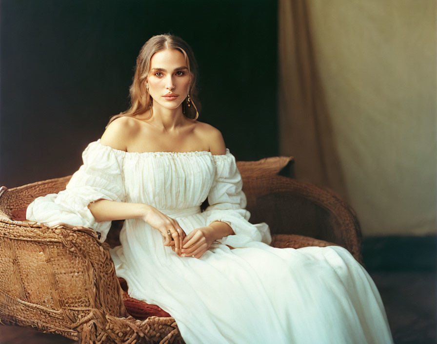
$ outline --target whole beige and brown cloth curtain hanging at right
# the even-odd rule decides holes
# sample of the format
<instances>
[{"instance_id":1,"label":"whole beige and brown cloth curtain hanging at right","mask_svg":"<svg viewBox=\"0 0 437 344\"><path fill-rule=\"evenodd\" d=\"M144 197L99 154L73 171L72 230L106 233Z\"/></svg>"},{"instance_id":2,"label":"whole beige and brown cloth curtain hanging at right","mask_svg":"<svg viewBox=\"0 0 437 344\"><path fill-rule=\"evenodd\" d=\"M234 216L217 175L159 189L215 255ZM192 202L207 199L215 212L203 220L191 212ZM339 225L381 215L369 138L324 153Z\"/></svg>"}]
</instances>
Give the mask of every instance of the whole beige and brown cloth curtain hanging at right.
<instances>
[{"instance_id":1,"label":"whole beige and brown cloth curtain hanging at right","mask_svg":"<svg viewBox=\"0 0 437 344\"><path fill-rule=\"evenodd\" d=\"M279 0L281 154L364 235L437 233L435 0Z\"/></svg>"}]
</instances>

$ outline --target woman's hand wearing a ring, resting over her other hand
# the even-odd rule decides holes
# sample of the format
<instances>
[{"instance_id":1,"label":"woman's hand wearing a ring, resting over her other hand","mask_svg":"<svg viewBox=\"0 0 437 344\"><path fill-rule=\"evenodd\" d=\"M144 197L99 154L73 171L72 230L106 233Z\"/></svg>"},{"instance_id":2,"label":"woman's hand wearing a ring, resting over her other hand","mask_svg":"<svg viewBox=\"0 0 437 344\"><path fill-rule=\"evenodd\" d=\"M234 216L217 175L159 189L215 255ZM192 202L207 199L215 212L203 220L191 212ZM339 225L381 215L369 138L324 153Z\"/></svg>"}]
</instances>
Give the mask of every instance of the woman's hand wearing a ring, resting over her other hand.
<instances>
[{"instance_id":1,"label":"woman's hand wearing a ring, resting over her other hand","mask_svg":"<svg viewBox=\"0 0 437 344\"><path fill-rule=\"evenodd\" d=\"M183 239L186 237L185 232L180 228L178 221L170 216L162 214L158 209L148 206L142 219L153 228L156 228L165 237L164 246L172 246L178 256L181 255ZM172 236L168 235L167 230L170 230ZM172 240L173 239L173 240ZM174 247L173 247L174 246Z\"/></svg>"}]
</instances>

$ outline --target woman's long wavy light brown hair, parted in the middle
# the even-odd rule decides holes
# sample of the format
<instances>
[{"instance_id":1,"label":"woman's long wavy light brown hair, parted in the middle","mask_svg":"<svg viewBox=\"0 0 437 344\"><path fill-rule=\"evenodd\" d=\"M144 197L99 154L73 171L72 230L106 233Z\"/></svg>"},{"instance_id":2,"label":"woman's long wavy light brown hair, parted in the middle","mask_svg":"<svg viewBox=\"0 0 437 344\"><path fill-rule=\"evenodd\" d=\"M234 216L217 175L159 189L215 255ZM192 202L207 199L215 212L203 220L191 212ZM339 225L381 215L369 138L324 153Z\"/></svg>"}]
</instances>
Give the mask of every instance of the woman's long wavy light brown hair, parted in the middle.
<instances>
[{"instance_id":1,"label":"woman's long wavy light brown hair, parted in the middle","mask_svg":"<svg viewBox=\"0 0 437 344\"><path fill-rule=\"evenodd\" d=\"M185 98L185 100L182 102L182 112L186 117L191 119L197 119L199 117L199 110L201 109L201 106L198 99L197 88L198 64L194 57L193 50L180 37L171 34L163 34L153 36L141 47L137 57L137 65L135 67L133 82L129 87L130 108L128 108L126 111L120 112L117 115L113 115L109 119L109 122L105 128L107 128L109 124L116 118L122 116L135 116L152 108L153 98L150 96L149 91L146 88L146 79L150 71L150 60L153 54L165 49L177 49L185 56L188 72L193 73L188 92L193 106L187 106L187 96L187 98ZM151 115L152 111L150 111L150 116ZM150 118L150 116L148 118Z\"/></svg>"}]
</instances>

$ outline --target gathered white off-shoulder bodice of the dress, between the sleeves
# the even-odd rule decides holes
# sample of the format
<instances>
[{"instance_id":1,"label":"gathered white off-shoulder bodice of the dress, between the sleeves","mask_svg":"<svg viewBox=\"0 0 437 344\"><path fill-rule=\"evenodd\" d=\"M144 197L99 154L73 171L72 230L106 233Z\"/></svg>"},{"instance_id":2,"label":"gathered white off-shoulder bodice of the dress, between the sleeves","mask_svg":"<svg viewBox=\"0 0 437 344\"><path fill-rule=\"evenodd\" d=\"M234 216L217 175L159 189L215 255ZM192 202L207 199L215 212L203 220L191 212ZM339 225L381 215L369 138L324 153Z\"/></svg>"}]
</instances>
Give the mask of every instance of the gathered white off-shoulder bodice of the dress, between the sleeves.
<instances>
[{"instance_id":1,"label":"gathered white off-shoulder bodice of the dress, between the sleeves","mask_svg":"<svg viewBox=\"0 0 437 344\"><path fill-rule=\"evenodd\" d=\"M160 210L200 206L216 174L215 159L209 151L126 152L103 146L119 162L125 188L124 202L146 203Z\"/></svg>"}]
</instances>

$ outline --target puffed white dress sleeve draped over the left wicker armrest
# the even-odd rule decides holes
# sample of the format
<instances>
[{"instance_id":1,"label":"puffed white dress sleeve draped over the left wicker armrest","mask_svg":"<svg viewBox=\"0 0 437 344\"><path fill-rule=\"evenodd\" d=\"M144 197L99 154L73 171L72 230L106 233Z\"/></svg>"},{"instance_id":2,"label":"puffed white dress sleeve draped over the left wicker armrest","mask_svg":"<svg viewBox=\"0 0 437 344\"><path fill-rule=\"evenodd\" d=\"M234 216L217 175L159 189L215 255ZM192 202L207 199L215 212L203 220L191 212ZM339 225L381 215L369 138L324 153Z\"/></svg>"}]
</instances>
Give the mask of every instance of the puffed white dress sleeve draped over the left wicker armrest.
<instances>
[{"instance_id":1,"label":"puffed white dress sleeve draped over the left wicker armrest","mask_svg":"<svg viewBox=\"0 0 437 344\"><path fill-rule=\"evenodd\" d=\"M65 190L37 197L27 207L26 219L48 227L63 222L92 228L101 234L99 240L103 242L111 221L96 222L88 205L99 199L124 200L123 156L98 140L86 147L82 159L83 165L72 175Z\"/></svg>"}]
</instances>

